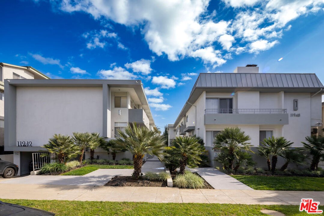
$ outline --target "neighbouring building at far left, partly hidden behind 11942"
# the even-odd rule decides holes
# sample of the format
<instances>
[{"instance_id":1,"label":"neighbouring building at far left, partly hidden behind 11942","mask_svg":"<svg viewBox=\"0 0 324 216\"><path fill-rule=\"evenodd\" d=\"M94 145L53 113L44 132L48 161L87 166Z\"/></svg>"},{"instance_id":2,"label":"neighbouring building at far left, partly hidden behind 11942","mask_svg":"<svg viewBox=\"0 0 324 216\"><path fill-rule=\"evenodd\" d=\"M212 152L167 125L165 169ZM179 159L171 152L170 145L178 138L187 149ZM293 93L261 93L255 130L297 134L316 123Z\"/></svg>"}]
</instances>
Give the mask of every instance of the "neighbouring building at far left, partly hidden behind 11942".
<instances>
[{"instance_id":1,"label":"neighbouring building at far left, partly hidden behind 11942","mask_svg":"<svg viewBox=\"0 0 324 216\"><path fill-rule=\"evenodd\" d=\"M13 153L4 150L5 79L50 79L35 68L0 63L0 158L13 162Z\"/></svg>"}]
</instances>

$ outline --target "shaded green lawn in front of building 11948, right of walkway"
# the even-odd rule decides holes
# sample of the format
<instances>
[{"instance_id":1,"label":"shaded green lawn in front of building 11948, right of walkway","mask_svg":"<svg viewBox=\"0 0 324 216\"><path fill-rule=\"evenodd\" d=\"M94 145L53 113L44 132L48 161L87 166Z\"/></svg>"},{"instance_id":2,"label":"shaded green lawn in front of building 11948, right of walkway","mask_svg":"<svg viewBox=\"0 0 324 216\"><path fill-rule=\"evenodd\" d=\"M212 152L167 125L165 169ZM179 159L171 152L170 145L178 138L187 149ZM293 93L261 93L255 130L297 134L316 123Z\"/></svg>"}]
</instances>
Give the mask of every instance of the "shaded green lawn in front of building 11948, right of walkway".
<instances>
[{"instance_id":1,"label":"shaded green lawn in front of building 11948, right of walkway","mask_svg":"<svg viewBox=\"0 0 324 216\"><path fill-rule=\"evenodd\" d=\"M324 191L324 178L299 176L232 176L255 190Z\"/></svg>"}]
</instances>

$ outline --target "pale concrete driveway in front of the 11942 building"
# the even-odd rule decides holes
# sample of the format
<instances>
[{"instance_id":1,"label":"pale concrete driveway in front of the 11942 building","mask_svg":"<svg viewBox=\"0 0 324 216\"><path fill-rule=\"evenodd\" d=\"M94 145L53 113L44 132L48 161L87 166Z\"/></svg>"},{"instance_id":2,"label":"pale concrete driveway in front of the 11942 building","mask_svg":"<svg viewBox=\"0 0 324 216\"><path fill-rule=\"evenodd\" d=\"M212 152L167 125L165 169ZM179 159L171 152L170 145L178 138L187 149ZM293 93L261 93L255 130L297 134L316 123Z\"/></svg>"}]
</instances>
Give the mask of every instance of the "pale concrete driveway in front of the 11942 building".
<instances>
[{"instance_id":1,"label":"pale concrete driveway in front of the 11942 building","mask_svg":"<svg viewBox=\"0 0 324 216\"><path fill-rule=\"evenodd\" d=\"M131 176L133 169L98 169L84 176L23 176L3 179L0 184L103 186L114 176Z\"/></svg>"}]
</instances>

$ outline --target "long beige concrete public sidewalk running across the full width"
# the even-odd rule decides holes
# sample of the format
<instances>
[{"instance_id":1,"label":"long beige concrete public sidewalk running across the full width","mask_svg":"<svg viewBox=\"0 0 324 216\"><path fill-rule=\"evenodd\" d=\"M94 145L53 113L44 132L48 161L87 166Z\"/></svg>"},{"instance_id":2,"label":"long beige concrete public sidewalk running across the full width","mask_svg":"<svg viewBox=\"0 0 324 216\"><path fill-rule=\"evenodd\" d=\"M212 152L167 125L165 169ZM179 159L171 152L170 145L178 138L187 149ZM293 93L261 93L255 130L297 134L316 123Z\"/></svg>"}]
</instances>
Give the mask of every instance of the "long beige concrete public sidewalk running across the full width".
<instances>
[{"instance_id":1,"label":"long beige concrete public sidewalk running across the full width","mask_svg":"<svg viewBox=\"0 0 324 216\"><path fill-rule=\"evenodd\" d=\"M0 184L0 199L299 205L302 198L324 203L324 192Z\"/></svg>"}]
</instances>

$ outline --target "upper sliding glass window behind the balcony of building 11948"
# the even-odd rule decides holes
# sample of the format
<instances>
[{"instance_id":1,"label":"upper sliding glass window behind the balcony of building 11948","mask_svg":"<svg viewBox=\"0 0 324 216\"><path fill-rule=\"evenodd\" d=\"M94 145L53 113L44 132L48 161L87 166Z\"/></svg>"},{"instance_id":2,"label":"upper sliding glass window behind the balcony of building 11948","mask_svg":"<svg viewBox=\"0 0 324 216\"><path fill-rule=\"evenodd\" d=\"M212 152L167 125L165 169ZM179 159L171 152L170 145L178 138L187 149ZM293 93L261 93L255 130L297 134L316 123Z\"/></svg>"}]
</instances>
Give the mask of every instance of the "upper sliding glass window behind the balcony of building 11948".
<instances>
[{"instance_id":1,"label":"upper sliding glass window behind the balcony of building 11948","mask_svg":"<svg viewBox=\"0 0 324 216\"><path fill-rule=\"evenodd\" d=\"M206 98L206 111L233 113L233 98Z\"/></svg>"}]
</instances>

